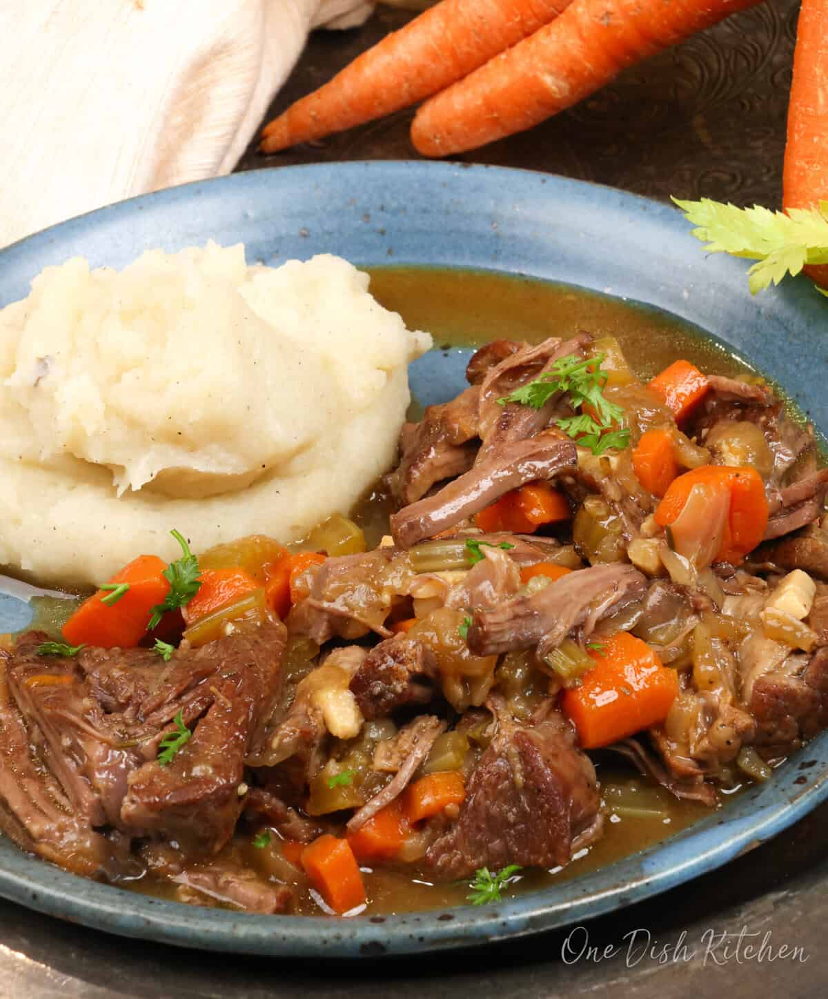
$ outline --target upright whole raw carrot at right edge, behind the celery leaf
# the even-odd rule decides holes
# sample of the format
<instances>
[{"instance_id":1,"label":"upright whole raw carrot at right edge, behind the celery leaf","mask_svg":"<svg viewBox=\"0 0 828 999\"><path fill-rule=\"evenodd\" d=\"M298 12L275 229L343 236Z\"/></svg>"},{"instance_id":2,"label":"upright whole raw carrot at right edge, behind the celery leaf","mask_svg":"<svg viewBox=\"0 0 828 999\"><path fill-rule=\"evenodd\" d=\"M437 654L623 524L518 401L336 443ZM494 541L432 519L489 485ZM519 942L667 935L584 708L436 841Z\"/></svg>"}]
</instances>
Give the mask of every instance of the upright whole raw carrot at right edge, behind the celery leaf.
<instances>
[{"instance_id":1,"label":"upright whole raw carrot at right edge, behind the celery leaf","mask_svg":"<svg viewBox=\"0 0 828 999\"><path fill-rule=\"evenodd\" d=\"M828 199L828 0L802 0L788 101L782 174L784 208L814 208ZM828 287L828 265L805 268Z\"/></svg>"}]
</instances>

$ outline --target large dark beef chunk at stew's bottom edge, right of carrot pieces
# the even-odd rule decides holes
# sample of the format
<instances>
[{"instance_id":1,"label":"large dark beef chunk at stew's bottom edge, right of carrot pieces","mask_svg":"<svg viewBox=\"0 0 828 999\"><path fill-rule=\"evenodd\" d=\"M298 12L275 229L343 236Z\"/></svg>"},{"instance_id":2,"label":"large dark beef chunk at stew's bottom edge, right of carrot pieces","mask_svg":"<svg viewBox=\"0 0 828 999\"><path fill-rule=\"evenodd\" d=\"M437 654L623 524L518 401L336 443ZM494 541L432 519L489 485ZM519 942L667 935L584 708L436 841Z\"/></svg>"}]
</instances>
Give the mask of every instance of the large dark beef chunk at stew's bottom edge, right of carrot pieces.
<instances>
[{"instance_id":1,"label":"large dark beef chunk at stew's bottom edge, right of carrot pieces","mask_svg":"<svg viewBox=\"0 0 828 999\"><path fill-rule=\"evenodd\" d=\"M552 714L534 726L498 712L498 728L474 768L456 821L431 843L425 864L451 880L479 867L554 867L600 832L595 770Z\"/></svg>"}]
</instances>

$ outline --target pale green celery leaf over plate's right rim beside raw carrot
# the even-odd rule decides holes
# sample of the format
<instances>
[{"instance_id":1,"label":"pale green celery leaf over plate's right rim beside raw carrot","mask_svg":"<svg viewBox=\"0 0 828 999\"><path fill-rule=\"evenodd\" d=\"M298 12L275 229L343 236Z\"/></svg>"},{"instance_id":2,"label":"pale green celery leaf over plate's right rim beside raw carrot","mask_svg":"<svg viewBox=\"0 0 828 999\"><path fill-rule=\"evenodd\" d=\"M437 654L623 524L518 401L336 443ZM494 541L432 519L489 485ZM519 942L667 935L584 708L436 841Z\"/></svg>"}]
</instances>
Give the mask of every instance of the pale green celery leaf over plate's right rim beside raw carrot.
<instances>
[{"instance_id":1,"label":"pale green celery leaf over plate's right rim beside raw carrot","mask_svg":"<svg viewBox=\"0 0 828 999\"><path fill-rule=\"evenodd\" d=\"M709 198L676 205L697 229L692 235L709 241L707 253L729 253L758 261L747 272L750 292L778 285L786 274L799 274L806 264L828 264L828 201L818 208L771 212L754 205L736 208ZM817 288L822 295L828 292Z\"/></svg>"}]
</instances>

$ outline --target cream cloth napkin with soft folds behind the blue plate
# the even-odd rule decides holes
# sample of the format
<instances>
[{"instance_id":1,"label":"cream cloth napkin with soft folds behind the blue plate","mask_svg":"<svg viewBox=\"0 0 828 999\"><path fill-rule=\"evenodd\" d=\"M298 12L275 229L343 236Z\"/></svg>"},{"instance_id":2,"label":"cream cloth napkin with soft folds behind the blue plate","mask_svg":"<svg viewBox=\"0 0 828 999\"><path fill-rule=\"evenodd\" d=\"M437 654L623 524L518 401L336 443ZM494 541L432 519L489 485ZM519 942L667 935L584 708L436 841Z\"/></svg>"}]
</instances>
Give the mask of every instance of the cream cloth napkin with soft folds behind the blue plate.
<instances>
[{"instance_id":1,"label":"cream cloth napkin with soft folds behind the blue plate","mask_svg":"<svg viewBox=\"0 0 828 999\"><path fill-rule=\"evenodd\" d=\"M308 32L373 0L0 3L0 247L230 173Z\"/></svg>"}]
</instances>

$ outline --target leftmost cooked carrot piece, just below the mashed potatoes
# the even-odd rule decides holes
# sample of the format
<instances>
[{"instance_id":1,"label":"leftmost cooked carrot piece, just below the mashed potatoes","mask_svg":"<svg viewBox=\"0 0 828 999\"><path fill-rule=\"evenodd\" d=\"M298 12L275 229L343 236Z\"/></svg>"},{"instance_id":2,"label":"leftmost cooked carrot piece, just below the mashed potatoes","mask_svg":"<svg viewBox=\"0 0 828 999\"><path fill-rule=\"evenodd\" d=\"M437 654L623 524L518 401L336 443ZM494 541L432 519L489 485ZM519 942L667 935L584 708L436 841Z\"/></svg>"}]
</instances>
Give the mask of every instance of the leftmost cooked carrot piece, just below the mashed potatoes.
<instances>
[{"instance_id":1,"label":"leftmost cooked carrot piece, just below the mashed potatoes","mask_svg":"<svg viewBox=\"0 0 828 999\"><path fill-rule=\"evenodd\" d=\"M163 603L170 589L164 576L167 562L157 555L139 555L109 580L128 583L129 589L114 603L103 602L111 590L99 589L84 600L63 626L63 636L70 645L100 645L131 648L147 633L152 608ZM158 629L154 632L158 634Z\"/></svg>"}]
</instances>

